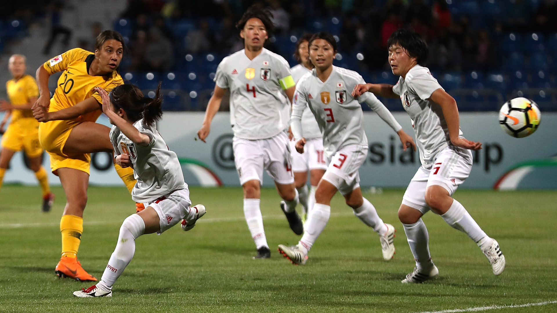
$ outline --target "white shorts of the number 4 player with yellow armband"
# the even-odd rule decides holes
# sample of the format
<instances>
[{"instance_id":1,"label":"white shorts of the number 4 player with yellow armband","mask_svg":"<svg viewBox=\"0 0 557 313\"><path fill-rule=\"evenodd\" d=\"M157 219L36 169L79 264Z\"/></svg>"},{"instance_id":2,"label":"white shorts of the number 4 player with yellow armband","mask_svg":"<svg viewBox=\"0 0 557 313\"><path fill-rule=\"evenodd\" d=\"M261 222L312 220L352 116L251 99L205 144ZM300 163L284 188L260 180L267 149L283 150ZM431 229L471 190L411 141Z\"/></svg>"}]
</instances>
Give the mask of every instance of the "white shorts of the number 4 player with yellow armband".
<instances>
[{"instance_id":1,"label":"white shorts of the number 4 player with yellow armband","mask_svg":"<svg viewBox=\"0 0 557 313\"><path fill-rule=\"evenodd\" d=\"M248 140L236 136L232 139L234 163L243 185L257 179L263 183L263 169L278 184L294 183L292 156L288 136L280 134L267 139Z\"/></svg>"}]
</instances>

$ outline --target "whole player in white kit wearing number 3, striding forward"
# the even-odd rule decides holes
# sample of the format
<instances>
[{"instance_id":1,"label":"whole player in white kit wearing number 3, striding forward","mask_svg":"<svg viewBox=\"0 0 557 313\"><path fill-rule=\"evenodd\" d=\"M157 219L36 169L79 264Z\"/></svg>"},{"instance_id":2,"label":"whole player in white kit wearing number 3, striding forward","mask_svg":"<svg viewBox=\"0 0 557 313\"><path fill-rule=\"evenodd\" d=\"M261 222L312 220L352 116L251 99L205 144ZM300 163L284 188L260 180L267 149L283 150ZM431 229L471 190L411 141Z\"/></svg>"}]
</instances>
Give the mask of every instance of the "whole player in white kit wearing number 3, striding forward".
<instances>
[{"instance_id":1,"label":"whole player in white kit wearing number 3, striding forward","mask_svg":"<svg viewBox=\"0 0 557 313\"><path fill-rule=\"evenodd\" d=\"M364 82L356 72L333 66L336 41L330 33L316 33L309 40L310 60L315 69L305 74L296 86L292 107L291 128L296 140L296 150L304 152L306 139L302 136L302 114L309 106L323 134L325 157L328 168L317 185L315 206L304 224L304 236L296 246L278 245L278 251L294 264L304 265L307 252L323 232L331 215L330 202L336 191L344 196L356 217L379 235L384 260L394 255L394 232L391 224L385 224L372 203L361 196L358 169L368 154L368 138L362 125L363 111L360 103L369 105L381 119L396 131L403 149L415 148L412 137L404 133L381 101L373 94L351 97L348 90Z\"/></svg>"}]
</instances>

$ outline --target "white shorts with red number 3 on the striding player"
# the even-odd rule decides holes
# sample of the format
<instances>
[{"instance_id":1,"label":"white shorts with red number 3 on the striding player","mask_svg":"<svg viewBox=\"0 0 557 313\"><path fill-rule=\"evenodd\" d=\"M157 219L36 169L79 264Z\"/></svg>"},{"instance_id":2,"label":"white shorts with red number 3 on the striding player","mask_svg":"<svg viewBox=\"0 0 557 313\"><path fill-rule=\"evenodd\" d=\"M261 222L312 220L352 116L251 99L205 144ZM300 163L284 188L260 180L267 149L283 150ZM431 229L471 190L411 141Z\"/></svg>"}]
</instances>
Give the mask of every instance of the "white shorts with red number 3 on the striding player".
<instances>
[{"instance_id":1,"label":"white shorts with red number 3 on the striding player","mask_svg":"<svg viewBox=\"0 0 557 313\"><path fill-rule=\"evenodd\" d=\"M365 162L368 146L349 145L336 151L323 179L333 184L341 194L349 194L360 187L358 169Z\"/></svg>"}]
</instances>

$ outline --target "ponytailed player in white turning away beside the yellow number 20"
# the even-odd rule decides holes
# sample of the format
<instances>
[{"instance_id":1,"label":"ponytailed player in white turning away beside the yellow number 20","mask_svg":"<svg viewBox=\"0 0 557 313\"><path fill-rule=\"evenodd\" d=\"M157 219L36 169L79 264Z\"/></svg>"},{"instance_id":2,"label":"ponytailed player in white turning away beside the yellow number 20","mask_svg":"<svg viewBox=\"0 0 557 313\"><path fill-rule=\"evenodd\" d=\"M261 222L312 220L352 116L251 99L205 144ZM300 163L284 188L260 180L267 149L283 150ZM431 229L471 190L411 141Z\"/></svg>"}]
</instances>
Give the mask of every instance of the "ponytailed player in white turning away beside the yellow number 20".
<instances>
[{"instance_id":1,"label":"ponytailed player in white turning away beside the yellow number 20","mask_svg":"<svg viewBox=\"0 0 557 313\"><path fill-rule=\"evenodd\" d=\"M155 125L163 116L160 83L153 99L144 97L134 85L120 85L110 92L96 88L102 96L102 111L114 126L110 140L116 163L131 167L138 178L131 198L146 208L132 214L120 227L116 248L99 283L74 292L77 297L111 297L114 282L131 262L135 239L142 234L164 231L182 221L184 231L196 226L205 214L203 204L190 207L188 185L174 151L168 149Z\"/></svg>"}]
</instances>

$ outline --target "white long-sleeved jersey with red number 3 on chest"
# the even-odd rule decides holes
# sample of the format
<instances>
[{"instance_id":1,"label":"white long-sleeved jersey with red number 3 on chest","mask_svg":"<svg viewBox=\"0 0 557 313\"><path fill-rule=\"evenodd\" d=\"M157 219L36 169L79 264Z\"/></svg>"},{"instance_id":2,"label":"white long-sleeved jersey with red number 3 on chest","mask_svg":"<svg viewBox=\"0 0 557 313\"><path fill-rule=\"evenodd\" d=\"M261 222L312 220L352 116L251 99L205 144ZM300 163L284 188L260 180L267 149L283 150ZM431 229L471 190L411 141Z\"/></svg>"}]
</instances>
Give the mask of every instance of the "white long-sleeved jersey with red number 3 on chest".
<instances>
[{"instance_id":1,"label":"white long-sleeved jersey with red number 3 on chest","mask_svg":"<svg viewBox=\"0 0 557 313\"><path fill-rule=\"evenodd\" d=\"M393 115L372 93L365 92L358 99L354 99L351 91L357 84L365 84L364 79L358 73L342 67L333 66L333 71L325 82L317 77L315 69L304 75L296 85L292 108L292 131L296 140L300 139L300 134L297 134L298 130L294 126L295 119L299 118L297 114L306 106L310 107L323 134L323 147L327 159L344 146L368 145L368 138L361 124L361 102L370 104L395 131L402 129Z\"/></svg>"}]
</instances>

